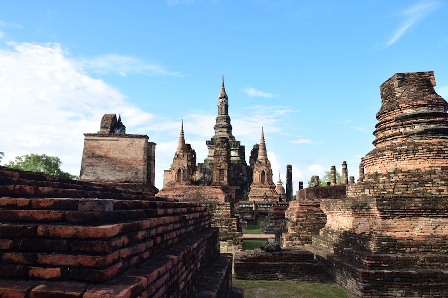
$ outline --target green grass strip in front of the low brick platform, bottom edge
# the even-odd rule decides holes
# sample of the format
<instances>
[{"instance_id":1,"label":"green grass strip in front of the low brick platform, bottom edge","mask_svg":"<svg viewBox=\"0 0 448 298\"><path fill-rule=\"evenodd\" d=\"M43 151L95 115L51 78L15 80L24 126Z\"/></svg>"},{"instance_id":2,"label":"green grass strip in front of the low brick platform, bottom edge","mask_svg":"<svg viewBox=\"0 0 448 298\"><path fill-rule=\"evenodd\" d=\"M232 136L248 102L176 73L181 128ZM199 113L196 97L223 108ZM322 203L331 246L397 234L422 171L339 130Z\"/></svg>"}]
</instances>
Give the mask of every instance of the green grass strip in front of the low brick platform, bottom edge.
<instances>
[{"instance_id":1,"label":"green grass strip in front of the low brick platform, bottom edge","mask_svg":"<svg viewBox=\"0 0 448 298\"><path fill-rule=\"evenodd\" d=\"M244 298L355 298L334 282L232 280L233 287L244 288Z\"/></svg>"}]
</instances>

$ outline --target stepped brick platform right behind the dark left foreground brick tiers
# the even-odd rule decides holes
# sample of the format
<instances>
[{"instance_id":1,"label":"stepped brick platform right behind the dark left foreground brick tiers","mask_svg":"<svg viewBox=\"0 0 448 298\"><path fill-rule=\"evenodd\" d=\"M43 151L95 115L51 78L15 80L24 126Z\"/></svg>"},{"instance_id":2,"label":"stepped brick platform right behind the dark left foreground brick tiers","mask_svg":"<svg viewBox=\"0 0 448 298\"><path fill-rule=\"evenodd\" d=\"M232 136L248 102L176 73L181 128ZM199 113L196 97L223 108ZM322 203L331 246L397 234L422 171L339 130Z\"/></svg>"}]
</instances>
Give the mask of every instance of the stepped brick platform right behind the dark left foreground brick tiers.
<instances>
[{"instance_id":1,"label":"stepped brick platform right behind the dark left foreground brick tiers","mask_svg":"<svg viewBox=\"0 0 448 298\"><path fill-rule=\"evenodd\" d=\"M239 226L239 204L235 202L234 186L166 185L157 196L195 202L206 207L212 214L212 226L220 229L221 251L242 249L243 235Z\"/></svg>"}]
</instances>

